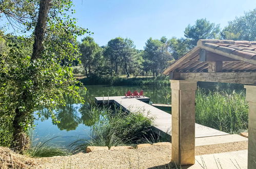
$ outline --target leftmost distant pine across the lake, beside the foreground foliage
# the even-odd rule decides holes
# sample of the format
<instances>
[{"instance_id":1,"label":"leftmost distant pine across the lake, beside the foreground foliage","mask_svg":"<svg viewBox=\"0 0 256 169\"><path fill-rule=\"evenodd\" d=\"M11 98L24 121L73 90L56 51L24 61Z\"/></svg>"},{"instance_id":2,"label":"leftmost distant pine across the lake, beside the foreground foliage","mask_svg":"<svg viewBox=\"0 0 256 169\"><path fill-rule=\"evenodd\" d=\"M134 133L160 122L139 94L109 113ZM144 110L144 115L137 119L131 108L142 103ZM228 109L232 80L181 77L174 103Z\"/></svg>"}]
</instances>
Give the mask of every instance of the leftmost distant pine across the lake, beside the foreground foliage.
<instances>
[{"instance_id":1,"label":"leftmost distant pine across the lake, beside the foreground foliage","mask_svg":"<svg viewBox=\"0 0 256 169\"><path fill-rule=\"evenodd\" d=\"M85 68L86 76L88 76L88 73L87 73L88 68L89 68L89 73L91 73L90 65L99 48L100 48L99 45L95 43L92 37L87 36L82 39L82 44L80 45L80 51L82 53L81 61Z\"/></svg>"}]
</instances>

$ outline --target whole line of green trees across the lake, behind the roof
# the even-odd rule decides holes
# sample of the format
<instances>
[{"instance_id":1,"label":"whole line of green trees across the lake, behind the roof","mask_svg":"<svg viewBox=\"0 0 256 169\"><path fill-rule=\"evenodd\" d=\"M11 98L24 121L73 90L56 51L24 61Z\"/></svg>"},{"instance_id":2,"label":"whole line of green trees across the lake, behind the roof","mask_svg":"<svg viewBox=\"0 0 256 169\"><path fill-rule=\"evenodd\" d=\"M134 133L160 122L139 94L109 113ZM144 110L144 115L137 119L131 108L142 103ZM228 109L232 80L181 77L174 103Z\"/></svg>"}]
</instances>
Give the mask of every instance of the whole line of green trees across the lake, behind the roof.
<instances>
[{"instance_id":1,"label":"whole line of green trees across the lake, behind the roof","mask_svg":"<svg viewBox=\"0 0 256 169\"><path fill-rule=\"evenodd\" d=\"M134 76L161 74L171 62L186 54L196 46L199 39L256 40L256 9L245 12L228 23L224 29L210 23L205 18L196 20L194 25L185 28L184 36L146 41L144 50L135 49L129 38L116 37L100 47L87 36L79 44L82 65L87 76L114 76L130 74ZM77 62L76 62L77 63Z\"/></svg>"}]
</instances>

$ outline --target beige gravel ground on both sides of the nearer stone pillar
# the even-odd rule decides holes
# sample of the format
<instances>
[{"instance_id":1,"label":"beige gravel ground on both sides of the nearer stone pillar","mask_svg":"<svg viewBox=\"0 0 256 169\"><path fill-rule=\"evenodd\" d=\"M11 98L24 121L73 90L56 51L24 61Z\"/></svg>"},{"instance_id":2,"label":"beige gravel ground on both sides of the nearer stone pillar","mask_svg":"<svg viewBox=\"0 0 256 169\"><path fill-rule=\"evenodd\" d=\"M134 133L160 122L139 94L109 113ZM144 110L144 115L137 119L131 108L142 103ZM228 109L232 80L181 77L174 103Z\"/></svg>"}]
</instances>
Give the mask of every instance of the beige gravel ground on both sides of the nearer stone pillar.
<instances>
[{"instance_id":1,"label":"beige gravel ground on both sides of the nearer stone pillar","mask_svg":"<svg viewBox=\"0 0 256 169\"><path fill-rule=\"evenodd\" d=\"M247 150L247 141L195 147L195 155ZM36 168L170 168L171 144L38 158ZM174 167L175 168L175 167Z\"/></svg>"}]
</instances>

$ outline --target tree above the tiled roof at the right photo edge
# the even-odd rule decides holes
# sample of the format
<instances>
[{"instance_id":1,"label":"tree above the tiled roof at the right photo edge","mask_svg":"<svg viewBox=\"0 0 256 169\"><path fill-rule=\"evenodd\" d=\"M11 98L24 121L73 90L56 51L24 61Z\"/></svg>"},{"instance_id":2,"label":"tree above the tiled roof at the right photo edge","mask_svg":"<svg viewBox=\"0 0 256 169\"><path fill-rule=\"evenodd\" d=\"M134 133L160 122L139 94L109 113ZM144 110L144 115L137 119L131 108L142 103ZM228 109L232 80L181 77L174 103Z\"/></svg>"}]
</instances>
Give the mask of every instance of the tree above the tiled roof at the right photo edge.
<instances>
[{"instance_id":1,"label":"tree above the tiled roof at the right photo edge","mask_svg":"<svg viewBox=\"0 0 256 169\"><path fill-rule=\"evenodd\" d=\"M223 39L256 40L256 9L245 12L244 16L236 17L228 23L222 32Z\"/></svg>"}]
</instances>

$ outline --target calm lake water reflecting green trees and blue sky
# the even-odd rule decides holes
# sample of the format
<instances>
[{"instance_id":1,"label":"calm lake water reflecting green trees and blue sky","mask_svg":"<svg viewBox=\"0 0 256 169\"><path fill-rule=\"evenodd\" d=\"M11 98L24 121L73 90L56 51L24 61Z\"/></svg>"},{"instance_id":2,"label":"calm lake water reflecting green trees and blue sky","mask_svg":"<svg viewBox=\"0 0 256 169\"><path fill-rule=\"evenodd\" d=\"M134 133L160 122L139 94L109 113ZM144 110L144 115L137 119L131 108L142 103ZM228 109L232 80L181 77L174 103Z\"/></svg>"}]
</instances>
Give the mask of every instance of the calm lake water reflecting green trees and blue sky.
<instances>
[{"instance_id":1,"label":"calm lake water reflecting green trees and blue sky","mask_svg":"<svg viewBox=\"0 0 256 169\"><path fill-rule=\"evenodd\" d=\"M87 90L80 89L80 94L85 99L85 104L75 103L72 98L67 97L66 106L60 107L55 111L56 117L60 123L53 123L50 113L47 110L42 111L41 118L35 120L35 130L33 131L34 141L46 141L56 137L50 142L67 145L77 139L90 139L91 125L93 121L87 114L86 107L89 101L94 101L96 96L122 96L128 90L144 91L144 95L150 97L152 103L170 104L171 93L170 86L140 87L140 86L86 86Z\"/></svg>"}]
</instances>

